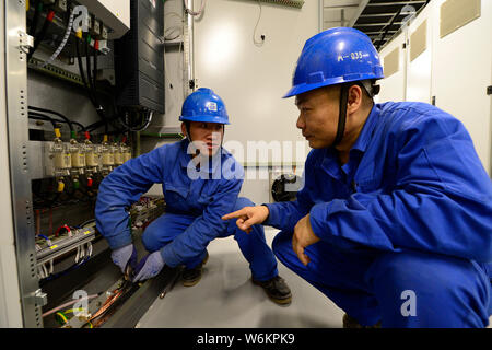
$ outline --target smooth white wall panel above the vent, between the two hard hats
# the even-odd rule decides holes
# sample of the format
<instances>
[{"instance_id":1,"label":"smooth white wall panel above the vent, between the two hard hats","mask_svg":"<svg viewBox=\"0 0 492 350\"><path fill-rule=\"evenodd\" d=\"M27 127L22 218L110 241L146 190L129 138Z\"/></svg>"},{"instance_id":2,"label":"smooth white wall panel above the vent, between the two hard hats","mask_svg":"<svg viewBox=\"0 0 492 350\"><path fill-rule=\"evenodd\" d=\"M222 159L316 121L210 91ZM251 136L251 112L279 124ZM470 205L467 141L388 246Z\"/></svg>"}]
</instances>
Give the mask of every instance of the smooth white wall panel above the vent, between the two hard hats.
<instances>
[{"instance_id":1,"label":"smooth white wall panel above the vent, between the two hard hats","mask_svg":"<svg viewBox=\"0 0 492 350\"><path fill-rule=\"evenodd\" d=\"M200 0L201 1L201 0ZM200 1L196 1L196 5ZM195 70L198 86L212 88L231 118L225 141L304 141L295 127L297 108L283 100L306 39L318 33L318 1L300 9L262 3L257 40L253 33L257 1L213 0L195 22ZM295 149L295 148L294 148ZM305 148L307 154L307 145ZM302 158L304 161L304 158Z\"/></svg>"}]
</instances>

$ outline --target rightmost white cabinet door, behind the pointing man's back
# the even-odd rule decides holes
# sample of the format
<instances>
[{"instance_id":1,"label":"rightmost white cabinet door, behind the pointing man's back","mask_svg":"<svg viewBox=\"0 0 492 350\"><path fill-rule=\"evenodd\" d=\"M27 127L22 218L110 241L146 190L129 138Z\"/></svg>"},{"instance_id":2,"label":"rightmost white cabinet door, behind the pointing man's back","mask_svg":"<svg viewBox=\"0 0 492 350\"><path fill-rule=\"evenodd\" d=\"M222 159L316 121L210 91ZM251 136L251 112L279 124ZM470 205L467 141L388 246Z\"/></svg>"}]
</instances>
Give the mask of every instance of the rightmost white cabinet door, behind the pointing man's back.
<instances>
[{"instance_id":1,"label":"rightmost white cabinet door, behind the pointing man's back","mask_svg":"<svg viewBox=\"0 0 492 350\"><path fill-rule=\"evenodd\" d=\"M492 1L437 0L433 10L432 95L464 122L491 175Z\"/></svg>"}]
</instances>

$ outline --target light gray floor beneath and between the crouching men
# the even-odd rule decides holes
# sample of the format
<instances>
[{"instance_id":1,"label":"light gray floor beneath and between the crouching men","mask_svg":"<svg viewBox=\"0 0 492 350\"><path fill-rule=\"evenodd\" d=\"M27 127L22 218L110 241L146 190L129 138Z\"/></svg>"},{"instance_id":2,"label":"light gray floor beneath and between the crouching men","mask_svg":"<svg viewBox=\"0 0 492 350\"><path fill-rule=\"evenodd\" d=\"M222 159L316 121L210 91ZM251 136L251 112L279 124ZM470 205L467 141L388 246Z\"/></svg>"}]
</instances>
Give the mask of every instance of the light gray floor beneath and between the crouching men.
<instances>
[{"instance_id":1,"label":"light gray floor beneath and between the crouching men","mask_svg":"<svg viewBox=\"0 0 492 350\"><path fill-rule=\"evenodd\" d=\"M269 244L277 230L267 229ZM278 306L250 281L247 261L233 237L209 245L210 258L201 281L190 288L179 282L157 299L137 327L266 328L341 327L343 311L279 262L293 299Z\"/></svg>"}]
</instances>

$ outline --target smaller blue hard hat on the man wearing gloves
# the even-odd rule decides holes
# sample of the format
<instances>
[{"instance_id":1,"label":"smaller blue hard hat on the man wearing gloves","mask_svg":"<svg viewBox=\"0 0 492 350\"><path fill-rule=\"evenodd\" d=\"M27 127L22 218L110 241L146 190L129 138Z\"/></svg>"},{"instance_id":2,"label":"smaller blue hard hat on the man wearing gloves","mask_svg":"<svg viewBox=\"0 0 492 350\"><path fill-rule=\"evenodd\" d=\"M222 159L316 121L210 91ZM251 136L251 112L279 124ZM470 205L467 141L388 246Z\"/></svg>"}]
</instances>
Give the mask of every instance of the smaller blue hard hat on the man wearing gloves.
<instances>
[{"instance_id":1,"label":"smaller blue hard hat on the man wearing gloves","mask_svg":"<svg viewBox=\"0 0 492 350\"><path fill-rule=\"evenodd\" d=\"M200 88L186 97L179 120L230 124L224 102L208 88Z\"/></svg>"}]
</instances>

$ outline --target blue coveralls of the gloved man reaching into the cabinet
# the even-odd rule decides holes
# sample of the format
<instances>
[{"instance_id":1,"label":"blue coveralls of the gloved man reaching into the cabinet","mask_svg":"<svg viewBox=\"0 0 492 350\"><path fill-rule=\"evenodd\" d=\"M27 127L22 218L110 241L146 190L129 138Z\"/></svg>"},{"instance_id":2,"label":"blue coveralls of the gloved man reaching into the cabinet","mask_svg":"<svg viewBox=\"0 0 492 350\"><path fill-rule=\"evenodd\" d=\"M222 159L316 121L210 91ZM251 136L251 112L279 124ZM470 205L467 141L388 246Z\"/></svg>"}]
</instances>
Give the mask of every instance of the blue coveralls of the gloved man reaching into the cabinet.
<instances>
[{"instance_id":1,"label":"blue coveralls of the gloved man reaching into the cabinet","mask_svg":"<svg viewBox=\"0 0 492 350\"><path fill-rule=\"evenodd\" d=\"M234 219L221 219L254 206L247 198L237 197L244 177L241 164L222 150L221 162L197 171L188 145L187 139L162 145L112 172L99 186L95 210L97 229L112 249L130 244L126 208L153 184L162 184L166 212L142 235L149 252L161 250L164 262L171 267L194 268L204 258L212 240L234 235L253 278L266 281L276 277L277 260L266 243L263 228L255 225L246 234Z\"/></svg>"}]
</instances>

